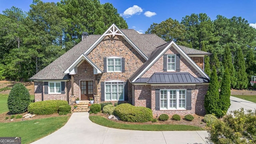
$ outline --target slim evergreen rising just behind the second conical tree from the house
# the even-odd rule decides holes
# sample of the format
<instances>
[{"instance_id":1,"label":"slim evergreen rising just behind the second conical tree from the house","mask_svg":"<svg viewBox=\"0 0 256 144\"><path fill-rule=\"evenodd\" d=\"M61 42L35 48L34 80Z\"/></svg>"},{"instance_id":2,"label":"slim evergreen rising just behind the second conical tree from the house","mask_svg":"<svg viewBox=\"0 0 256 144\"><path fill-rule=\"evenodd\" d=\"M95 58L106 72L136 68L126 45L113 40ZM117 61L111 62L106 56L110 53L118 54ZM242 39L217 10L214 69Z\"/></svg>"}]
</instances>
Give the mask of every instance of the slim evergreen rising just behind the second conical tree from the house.
<instances>
[{"instance_id":1,"label":"slim evergreen rising just behind the second conical tree from the house","mask_svg":"<svg viewBox=\"0 0 256 144\"><path fill-rule=\"evenodd\" d=\"M235 88L236 86L236 77L235 77L235 68L232 64L232 55L230 52L229 44L226 44L224 50L224 59L223 59L224 68L228 68L228 73L230 74L231 87Z\"/></svg>"}]
</instances>

